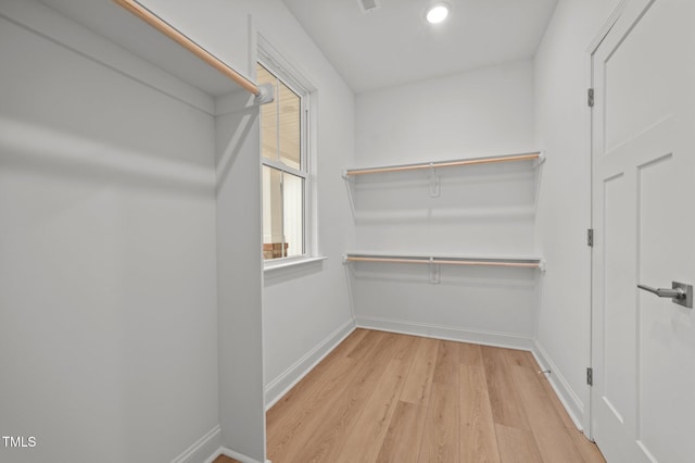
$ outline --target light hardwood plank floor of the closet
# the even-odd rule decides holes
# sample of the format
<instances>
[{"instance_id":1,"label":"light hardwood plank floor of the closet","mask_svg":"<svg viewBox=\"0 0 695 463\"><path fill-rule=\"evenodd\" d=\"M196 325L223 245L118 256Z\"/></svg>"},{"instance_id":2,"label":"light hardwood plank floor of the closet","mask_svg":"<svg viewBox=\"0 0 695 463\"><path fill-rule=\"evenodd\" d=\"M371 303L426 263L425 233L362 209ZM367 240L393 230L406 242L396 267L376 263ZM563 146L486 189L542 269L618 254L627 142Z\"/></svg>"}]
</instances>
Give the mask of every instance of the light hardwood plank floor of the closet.
<instances>
[{"instance_id":1,"label":"light hardwood plank floor of the closet","mask_svg":"<svg viewBox=\"0 0 695 463\"><path fill-rule=\"evenodd\" d=\"M605 462L529 352L357 329L266 416L282 462Z\"/></svg>"}]
</instances>

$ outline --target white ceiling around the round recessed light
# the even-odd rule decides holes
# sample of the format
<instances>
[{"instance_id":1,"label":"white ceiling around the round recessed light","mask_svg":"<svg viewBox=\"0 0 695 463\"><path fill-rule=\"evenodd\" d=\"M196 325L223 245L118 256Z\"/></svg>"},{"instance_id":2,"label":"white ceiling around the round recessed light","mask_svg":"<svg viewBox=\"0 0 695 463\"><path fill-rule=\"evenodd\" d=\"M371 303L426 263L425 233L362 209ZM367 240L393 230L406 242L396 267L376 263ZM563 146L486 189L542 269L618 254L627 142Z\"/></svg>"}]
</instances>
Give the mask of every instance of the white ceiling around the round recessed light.
<instances>
[{"instance_id":1,"label":"white ceiling around the round recessed light","mask_svg":"<svg viewBox=\"0 0 695 463\"><path fill-rule=\"evenodd\" d=\"M448 0L450 17L425 22L431 0L283 0L355 92L528 59L557 0Z\"/></svg>"}]
</instances>

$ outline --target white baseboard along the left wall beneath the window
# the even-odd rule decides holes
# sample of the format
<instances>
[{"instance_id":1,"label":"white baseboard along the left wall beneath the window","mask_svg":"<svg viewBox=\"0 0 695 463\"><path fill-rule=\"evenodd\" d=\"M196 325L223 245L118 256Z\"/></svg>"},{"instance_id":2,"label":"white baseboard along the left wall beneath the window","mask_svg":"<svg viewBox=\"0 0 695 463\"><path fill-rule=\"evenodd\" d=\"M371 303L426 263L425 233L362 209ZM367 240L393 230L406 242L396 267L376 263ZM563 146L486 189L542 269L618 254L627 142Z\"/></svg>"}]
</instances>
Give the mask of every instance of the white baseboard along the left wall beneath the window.
<instances>
[{"instance_id":1,"label":"white baseboard along the left wall beneath the window","mask_svg":"<svg viewBox=\"0 0 695 463\"><path fill-rule=\"evenodd\" d=\"M280 376L273 379L265 387L266 410L270 409L294 387L308 372L311 372L326 355L328 355L339 343L355 330L355 322L351 318L341 325L333 333L328 335L314 349L298 360L292 366L287 368Z\"/></svg>"}]
</instances>

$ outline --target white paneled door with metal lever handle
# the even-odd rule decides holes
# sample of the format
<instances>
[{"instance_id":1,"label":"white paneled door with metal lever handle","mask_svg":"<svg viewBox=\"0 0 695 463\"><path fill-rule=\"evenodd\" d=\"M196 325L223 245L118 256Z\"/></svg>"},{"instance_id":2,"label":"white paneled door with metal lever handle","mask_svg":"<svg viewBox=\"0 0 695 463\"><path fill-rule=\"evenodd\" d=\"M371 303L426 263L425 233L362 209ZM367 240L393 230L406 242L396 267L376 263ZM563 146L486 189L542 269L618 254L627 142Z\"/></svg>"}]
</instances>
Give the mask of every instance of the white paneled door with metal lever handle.
<instances>
[{"instance_id":1,"label":"white paneled door with metal lever handle","mask_svg":"<svg viewBox=\"0 0 695 463\"><path fill-rule=\"evenodd\" d=\"M630 0L593 55L592 436L695 462L695 0Z\"/></svg>"}]
</instances>

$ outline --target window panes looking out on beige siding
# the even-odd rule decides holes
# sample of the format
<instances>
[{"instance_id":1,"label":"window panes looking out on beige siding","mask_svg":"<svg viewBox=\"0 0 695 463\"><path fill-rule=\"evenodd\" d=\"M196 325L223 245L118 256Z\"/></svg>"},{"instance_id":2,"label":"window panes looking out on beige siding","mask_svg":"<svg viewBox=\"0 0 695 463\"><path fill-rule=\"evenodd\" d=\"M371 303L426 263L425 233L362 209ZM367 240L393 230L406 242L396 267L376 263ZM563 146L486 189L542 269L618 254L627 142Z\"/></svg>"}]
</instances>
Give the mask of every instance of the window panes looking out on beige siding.
<instances>
[{"instance_id":1,"label":"window panes looking out on beige siding","mask_svg":"<svg viewBox=\"0 0 695 463\"><path fill-rule=\"evenodd\" d=\"M298 258L307 253L308 96L270 66L258 63L256 73L275 92L275 101L261 107L263 259Z\"/></svg>"}]
</instances>

